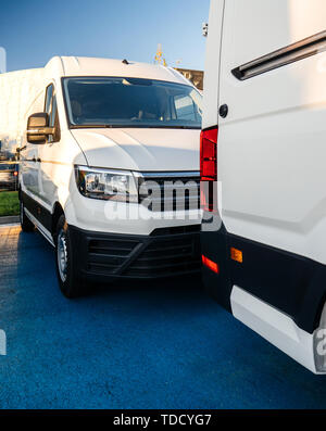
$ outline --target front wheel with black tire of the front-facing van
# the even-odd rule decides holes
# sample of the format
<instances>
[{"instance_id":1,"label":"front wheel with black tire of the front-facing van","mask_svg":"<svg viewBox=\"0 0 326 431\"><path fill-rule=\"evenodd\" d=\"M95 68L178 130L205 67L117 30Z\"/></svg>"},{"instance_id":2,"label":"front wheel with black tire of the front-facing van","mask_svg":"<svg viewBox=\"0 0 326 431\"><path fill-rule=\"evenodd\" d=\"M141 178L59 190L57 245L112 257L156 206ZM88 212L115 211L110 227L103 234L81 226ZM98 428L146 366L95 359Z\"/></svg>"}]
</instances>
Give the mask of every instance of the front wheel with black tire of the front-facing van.
<instances>
[{"instance_id":1,"label":"front wheel with black tire of the front-facing van","mask_svg":"<svg viewBox=\"0 0 326 431\"><path fill-rule=\"evenodd\" d=\"M65 297L74 299L87 293L87 284L76 269L76 251L73 248L70 227L64 215L59 218L55 234L55 268L61 292Z\"/></svg>"}]
</instances>

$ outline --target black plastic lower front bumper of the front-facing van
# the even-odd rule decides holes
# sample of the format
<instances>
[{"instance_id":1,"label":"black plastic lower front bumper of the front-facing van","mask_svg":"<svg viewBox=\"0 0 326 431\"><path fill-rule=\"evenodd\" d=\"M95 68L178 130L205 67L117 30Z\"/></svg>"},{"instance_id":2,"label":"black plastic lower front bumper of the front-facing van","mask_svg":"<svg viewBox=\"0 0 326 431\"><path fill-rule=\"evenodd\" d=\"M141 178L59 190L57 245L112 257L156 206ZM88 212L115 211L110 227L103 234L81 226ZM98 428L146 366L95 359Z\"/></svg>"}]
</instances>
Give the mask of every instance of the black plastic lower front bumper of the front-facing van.
<instances>
[{"instance_id":1,"label":"black plastic lower front bumper of the front-facing van","mask_svg":"<svg viewBox=\"0 0 326 431\"><path fill-rule=\"evenodd\" d=\"M153 279L200 271L200 226L150 236L97 233L70 226L78 272L91 280Z\"/></svg>"}]
</instances>

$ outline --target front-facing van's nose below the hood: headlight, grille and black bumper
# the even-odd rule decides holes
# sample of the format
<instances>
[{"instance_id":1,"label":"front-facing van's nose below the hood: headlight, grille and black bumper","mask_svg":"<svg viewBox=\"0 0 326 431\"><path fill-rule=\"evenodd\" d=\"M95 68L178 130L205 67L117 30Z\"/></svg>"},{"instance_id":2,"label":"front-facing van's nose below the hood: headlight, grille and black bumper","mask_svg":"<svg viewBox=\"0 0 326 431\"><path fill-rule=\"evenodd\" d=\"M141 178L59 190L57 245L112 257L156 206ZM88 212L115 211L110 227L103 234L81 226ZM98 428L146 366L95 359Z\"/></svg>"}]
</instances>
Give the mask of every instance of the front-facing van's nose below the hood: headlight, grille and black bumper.
<instances>
[{"instance_id":1,"label":"front-facing van's nose below the hood: headlight, grille and black bumper","mask_svg":"<svg viewBox=\"0 0 326 431\"><path fill-rule=\"evenodd\" d=\"M200 271L198 172L76 167L75 176L72 207L78 211L67 219L82 277L112 281Z\"/></svg>"}]
</instances>

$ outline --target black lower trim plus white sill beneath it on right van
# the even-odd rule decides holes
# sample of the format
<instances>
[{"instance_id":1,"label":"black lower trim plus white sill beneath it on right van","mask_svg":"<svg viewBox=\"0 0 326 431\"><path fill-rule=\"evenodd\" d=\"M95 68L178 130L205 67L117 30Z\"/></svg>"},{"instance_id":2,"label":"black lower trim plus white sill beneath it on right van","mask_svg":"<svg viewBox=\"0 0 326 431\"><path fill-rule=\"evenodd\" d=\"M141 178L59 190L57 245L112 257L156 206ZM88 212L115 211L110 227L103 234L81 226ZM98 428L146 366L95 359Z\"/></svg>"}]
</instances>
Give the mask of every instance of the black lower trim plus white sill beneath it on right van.
<instances>
[{"instance_id":1,"label":"black lower trim plus white sill beneath it on right van","mask_svg":"<svg viewBox=\"0 0 326 431\"><path fill-rule=\"evenodd\" d=\"M241 263L231 259L231 248L242 252ZM316 348L325 265L236 237L223 225L201 232L201 251L218 264L218 274L203 267L203 282L222 306L311 371L326 373L325 353Z\"/></svg>"}]
</instances>

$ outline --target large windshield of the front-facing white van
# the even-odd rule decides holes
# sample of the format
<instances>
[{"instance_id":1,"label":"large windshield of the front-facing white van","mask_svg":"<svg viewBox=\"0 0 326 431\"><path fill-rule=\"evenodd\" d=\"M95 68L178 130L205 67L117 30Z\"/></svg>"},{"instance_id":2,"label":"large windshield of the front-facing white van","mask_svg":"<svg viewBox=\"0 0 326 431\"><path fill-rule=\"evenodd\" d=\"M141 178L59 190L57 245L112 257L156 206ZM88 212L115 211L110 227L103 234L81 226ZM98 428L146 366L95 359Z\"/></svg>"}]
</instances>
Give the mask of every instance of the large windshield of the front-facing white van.
<instances>
[{"instance_id":1,"label":"large windshield of the front-facing white van","mask_svg":"<svg viewBox=\"0 0 326 431\"><path fill-rule=\"evenodd\" d=\"M190 85L139 78L64 78L72 128L201 128L202 97Z\"/></svg>"}]
</instances>

